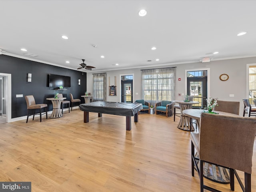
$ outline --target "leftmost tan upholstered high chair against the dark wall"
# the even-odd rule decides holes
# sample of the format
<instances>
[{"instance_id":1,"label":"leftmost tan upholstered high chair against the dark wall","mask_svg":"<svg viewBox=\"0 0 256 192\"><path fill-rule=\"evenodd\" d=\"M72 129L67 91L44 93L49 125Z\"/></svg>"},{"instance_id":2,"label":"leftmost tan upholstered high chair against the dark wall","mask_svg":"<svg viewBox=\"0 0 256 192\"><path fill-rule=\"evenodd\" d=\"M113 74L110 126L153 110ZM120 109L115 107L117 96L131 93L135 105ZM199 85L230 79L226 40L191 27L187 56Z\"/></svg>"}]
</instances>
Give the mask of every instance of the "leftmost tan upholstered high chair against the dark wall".
<instances>
[{"instance_id":1,"label":"leftmost tan upholstered high chair against the dark wall","mask_svg":"<svg viewBox=\"0 0 256 192\"><path fill-rule=\"evenodd\" d=\"M46 114L46 119L47 119L47 111L48 111L48 105L47 104L36 104L35 98L32 95L26 95L25 96L26 99L26 103L27 103L27 109L28 109L28 116L27 116L27 121L28 122L28 117L30 116L29 114L29 110L33 110L33 120L35 115L40 114L40 122L42 122L42 108L44 108L44 114ZM40 112L39 113L35 113L36 109L39 109Z\"/></svg>"}]
</instances>

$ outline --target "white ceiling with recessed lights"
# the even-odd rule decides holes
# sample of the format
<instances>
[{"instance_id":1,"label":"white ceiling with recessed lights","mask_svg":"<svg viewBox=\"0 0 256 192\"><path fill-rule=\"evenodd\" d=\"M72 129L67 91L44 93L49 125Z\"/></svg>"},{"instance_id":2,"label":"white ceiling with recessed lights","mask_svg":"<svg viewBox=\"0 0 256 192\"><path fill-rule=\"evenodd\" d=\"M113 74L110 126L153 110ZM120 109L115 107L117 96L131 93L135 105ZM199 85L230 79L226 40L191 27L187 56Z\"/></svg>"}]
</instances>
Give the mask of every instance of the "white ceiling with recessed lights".
<instances>
[{"instance_id":1,"label":"white ceiling with recessed lights","mask_svg":"<svg viewBox=\"0 0 256 192\"><path fill-rule=\"evenodd\" d=\"M38 55L29 59L73 69L84 58L96 67L84 72L251 57L255 8L255 0L1 0L0 48L22 58L26 48Z\"/></svg>"}]
</instances>

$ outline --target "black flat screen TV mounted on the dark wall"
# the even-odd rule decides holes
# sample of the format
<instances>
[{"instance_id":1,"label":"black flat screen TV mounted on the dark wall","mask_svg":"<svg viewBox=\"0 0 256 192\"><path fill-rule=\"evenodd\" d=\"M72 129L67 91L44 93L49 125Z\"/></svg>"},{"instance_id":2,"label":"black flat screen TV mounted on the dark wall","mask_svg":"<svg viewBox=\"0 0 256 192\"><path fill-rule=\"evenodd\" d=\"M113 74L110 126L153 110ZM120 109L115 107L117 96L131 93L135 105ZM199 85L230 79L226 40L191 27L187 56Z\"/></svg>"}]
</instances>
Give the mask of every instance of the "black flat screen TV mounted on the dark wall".
<instances>
[{"instance_id":1,"label":"black flat screen TV mounted on the dark wall","mask_svg":"<svg viewBox=\"0 0 256 192\"><path fill-rule=\"evenodd\" d=\"M49 87L71 87L70 77L63 75L48 74Z\"/></svg>"}]
</instances>

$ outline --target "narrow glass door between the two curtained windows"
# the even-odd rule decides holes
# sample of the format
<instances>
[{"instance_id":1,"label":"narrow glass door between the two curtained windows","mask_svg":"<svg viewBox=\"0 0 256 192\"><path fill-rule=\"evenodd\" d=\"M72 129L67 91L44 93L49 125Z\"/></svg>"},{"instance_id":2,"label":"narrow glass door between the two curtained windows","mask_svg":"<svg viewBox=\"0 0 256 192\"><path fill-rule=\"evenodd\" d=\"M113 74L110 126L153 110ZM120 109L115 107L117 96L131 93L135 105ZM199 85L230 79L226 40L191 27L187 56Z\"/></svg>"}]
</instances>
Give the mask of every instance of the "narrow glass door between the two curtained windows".
<instances>
[{"instance_id":1,"label":"narrow glass door between the two curtained windows","mask_svg":"<svg viewBox=\"0 0 256 192\"><path fill-rule=\"evenodd\" d=\"M133 102L133 74L121 75L121 102Z\"/></svg>"}]
</instances>

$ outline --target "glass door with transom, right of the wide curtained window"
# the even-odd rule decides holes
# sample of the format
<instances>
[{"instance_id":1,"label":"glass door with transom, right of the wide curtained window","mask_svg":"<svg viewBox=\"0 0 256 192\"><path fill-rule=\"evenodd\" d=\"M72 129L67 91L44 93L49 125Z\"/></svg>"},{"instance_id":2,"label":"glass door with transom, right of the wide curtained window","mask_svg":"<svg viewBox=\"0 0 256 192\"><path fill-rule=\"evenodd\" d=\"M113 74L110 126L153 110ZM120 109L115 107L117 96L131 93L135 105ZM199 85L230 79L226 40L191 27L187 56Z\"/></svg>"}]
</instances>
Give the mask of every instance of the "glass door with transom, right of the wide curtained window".
<instances>
[{"instance_id":1,"label":"glass door with transom, right of the wide curtained window","mask_svg":"<svg viewBox=\"0 0 256 192\"><path fill-rule=\"evenodd\" d=\"M194 101L199 102L193 105L193 108L205 108L208 97L208 70L187 71L186 77L187 95L194 96Z\"/></svg>"}]
</instances>

